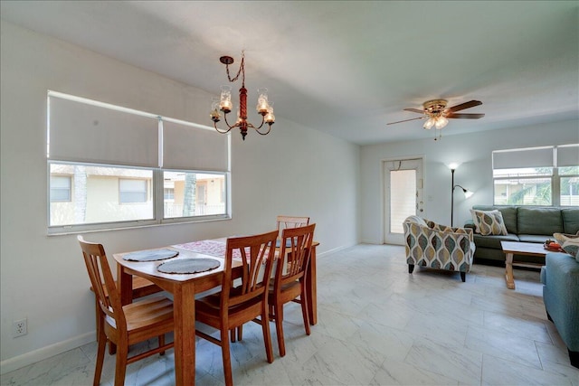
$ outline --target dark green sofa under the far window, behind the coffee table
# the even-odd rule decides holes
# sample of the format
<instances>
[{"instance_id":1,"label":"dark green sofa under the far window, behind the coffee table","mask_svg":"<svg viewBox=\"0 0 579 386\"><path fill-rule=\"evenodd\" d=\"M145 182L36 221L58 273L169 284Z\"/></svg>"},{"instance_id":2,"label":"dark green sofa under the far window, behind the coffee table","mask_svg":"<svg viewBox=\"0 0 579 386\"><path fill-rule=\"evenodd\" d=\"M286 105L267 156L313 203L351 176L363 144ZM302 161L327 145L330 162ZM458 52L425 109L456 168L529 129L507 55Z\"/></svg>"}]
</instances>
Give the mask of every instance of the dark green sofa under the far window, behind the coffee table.
<instances>
[{"instance_id":1,"label":"dark green sofa under the far window, behind the coffee table","mask_svg":"<svg viewBox=\"0 0 579 386\"><path fill-rule=\"evenodd\" d=\"M553 233L575 234L579 231L579 207L536 207L536 206L495 206L474 205L479 211L498 210L501 212L507 235L483 236L475 231L475 262L504 263L505 254L500 247L501 240L544 243L553 240ZM475 229L473 221L467 221L465 228ZM543 262L542 258L517 256L517 261Z\"/></svg>"}]
</instances>

